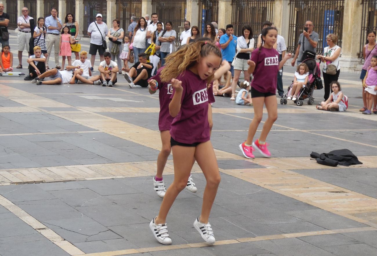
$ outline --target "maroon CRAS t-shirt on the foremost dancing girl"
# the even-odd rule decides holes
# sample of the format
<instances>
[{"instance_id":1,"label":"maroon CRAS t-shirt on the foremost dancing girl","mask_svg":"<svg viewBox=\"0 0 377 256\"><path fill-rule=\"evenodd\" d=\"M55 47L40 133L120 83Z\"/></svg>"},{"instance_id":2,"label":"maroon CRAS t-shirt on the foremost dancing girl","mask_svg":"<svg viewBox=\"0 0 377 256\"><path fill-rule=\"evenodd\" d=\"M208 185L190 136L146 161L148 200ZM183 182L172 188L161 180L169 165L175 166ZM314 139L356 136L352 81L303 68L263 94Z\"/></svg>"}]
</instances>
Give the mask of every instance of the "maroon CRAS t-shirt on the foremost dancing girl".
<instances>
[{"instance_id":1,"label":"maroon CRAS t-shirt on the foremost dancing girl","mask_svg":"<svg viewBox=\"0 0 377 256\"><path fill-rule=\"evenodd\" d=\"M189 69L177 77L182 81L181 110L174 117L170 136L181 143L192 144L210 140L208 124L207 81ZM209 90L210 93L211 90ZM173 98L175 90L170 97Z\"/></svg>"}]
</instances>

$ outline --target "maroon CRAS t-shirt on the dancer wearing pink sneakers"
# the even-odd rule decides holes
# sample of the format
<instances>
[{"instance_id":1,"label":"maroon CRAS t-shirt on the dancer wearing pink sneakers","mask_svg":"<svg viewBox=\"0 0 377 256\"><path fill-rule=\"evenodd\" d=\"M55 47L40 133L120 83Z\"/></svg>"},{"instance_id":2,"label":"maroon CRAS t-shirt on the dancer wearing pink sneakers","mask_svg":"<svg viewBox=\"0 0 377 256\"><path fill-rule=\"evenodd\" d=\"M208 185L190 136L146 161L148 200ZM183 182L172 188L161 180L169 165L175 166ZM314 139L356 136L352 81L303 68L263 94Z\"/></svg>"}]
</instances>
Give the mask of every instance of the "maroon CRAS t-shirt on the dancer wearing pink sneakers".
<instances>
[{"instance_id":1,"label":"maroon CRAS t-shirt on the dancer wearing pink sneakers","mask_svg":"<svg viewBox=\"0 0 377 256\"><path fill-rule=\"evenodd\" d=\"M251 54L251 60L256 64L251 87L258 92L275 94L277 72L279 72L279 53L274 48L267 49L264 47L262 47L260 53L258 52L259 48L256 48Z\"/></svg>"}]
</instances>

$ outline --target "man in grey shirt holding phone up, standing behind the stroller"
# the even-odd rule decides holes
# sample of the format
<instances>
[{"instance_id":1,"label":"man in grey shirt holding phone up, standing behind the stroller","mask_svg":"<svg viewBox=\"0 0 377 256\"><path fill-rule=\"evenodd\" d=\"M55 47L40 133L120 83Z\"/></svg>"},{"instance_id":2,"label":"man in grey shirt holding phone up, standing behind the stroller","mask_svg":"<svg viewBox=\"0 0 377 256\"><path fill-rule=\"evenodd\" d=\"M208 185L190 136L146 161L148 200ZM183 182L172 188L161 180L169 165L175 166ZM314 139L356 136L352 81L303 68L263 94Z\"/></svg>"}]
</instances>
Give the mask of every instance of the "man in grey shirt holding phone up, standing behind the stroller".
<instances>
[{"instance_id":1,"label":"man in grey shirt holding phone up, standing behind the stroller","mask_svg":"<svg viewBox=\"0 0 377 256\"><path fill-rule=\"evenodd\" d=\"M299 43L297 45L296 53L294 54L294 58L291 62L292 66L297 60L297 65L299 65L303 60L304 56L303 53L306 50L316 52L316 48L318 45L318 33L313 31L313 22L310 20L305 22L304 31L300 34Z\"/></svg>"}]
</instances>

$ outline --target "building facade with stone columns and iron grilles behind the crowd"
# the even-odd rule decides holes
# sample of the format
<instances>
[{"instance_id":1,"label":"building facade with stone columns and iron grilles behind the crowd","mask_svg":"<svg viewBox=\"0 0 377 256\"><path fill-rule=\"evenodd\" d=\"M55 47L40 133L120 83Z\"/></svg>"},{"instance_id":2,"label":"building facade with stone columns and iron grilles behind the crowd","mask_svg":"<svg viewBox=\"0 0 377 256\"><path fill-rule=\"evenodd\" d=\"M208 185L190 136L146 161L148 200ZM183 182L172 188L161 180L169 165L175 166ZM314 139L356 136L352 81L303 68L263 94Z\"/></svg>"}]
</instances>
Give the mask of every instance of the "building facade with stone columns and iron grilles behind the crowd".
<instances>
[{"instance_id":1,"label":"building facade with stone columns and iron grilles behind the crowd","mask_svg":"<svg viewBox=\"0 0 377 256\"><path fill-rule=\"evenodd\" d=\"M1 0L0 0L1 1ZM15 28L21 8L29 8L29 15L47 17L53 6L64 21L67 13L74 14L80 25L80 35L86 37L87 27L101 13L108 26L112 20L121 20L127 30L130 17L157 12L159 20L172 21L177 34L189 20L203 33L205 24L216 21L218 28L233 24L235 34L242 26L250 25L254 38L261 32L261 24L271 21L285 38L288 51L294 53L305 21L311 20L319 33L317 53L326 46L326 35L335 33L342 47L340 65L343 71L359 72L362 47L366 35L376 30L377 0L3 0L5 12L10 15L10 28Z\"/></svg>"}]
</instances>

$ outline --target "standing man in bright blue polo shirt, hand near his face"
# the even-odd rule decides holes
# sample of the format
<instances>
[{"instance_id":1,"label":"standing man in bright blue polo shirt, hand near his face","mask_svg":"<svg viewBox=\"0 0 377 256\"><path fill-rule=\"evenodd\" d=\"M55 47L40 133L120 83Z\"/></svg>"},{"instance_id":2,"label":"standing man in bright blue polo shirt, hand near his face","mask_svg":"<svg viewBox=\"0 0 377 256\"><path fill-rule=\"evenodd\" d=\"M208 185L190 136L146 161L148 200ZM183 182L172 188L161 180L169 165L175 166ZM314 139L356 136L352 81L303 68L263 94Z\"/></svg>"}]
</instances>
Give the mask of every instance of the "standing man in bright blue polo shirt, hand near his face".
<instances>
[{"instance_id":1,"label":"standing man in bright blue polo shirt, hand near his face","mask_svg":"<svg viewBox=\"0 0 377 256\"><path fill-rule=\"evenodd\" d=\"M230 64L230 72L234 76L234 68L231 65L234 55L236 55L237 36L233 35L234 29L232 24L227 25L227 33L220 38L222 59Z\"/></svg>"}]
</instances>

